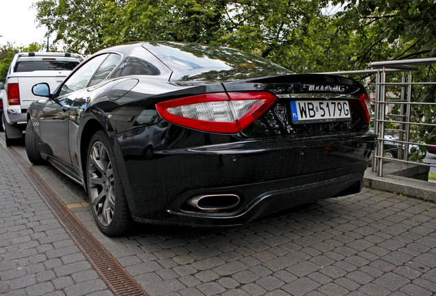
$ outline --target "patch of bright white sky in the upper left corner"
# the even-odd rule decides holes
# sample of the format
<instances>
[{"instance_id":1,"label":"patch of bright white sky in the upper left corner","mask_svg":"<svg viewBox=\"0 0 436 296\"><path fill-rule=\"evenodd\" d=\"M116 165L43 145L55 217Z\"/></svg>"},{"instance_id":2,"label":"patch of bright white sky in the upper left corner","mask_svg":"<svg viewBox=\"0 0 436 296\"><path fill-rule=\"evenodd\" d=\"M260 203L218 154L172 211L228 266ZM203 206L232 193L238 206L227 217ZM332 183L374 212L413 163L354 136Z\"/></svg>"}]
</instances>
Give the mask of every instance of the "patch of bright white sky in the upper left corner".
<instances>
[{"instance_id":1,"label":"patch of bright white sky in the upper left corner","mask_svg":"<svg viewBox=\"0 0 436 296\"><path fill-rule=\"evenodd\" d=\"M8 41L16 46L32 42L45 42L45 27L36 28L36 9L32 3L38 0L0 0L0 45Z\"/></svg>"}]
</instances>

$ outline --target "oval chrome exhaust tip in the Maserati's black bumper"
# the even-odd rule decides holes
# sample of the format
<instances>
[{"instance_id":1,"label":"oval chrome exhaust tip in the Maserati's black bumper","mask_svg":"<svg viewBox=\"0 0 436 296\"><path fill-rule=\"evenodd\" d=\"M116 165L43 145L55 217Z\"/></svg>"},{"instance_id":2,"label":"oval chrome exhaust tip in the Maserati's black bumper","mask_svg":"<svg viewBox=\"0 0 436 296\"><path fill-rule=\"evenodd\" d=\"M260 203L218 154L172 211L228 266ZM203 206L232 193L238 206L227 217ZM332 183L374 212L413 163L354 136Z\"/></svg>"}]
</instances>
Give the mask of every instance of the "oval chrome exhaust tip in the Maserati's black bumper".
<instances>
[{"instance_id":1,"label":"oval chrome exhaust tip in the Maserati's black bumper","mask_svg":"<svg viewBox=\"0 0 436 296\"><path fill-rule=\"evenodd\" d=\"M239 205L241 199L234 194L196 195L185 204L195 208L196 212L224 212Z\"/></svg>"}]
</instances>

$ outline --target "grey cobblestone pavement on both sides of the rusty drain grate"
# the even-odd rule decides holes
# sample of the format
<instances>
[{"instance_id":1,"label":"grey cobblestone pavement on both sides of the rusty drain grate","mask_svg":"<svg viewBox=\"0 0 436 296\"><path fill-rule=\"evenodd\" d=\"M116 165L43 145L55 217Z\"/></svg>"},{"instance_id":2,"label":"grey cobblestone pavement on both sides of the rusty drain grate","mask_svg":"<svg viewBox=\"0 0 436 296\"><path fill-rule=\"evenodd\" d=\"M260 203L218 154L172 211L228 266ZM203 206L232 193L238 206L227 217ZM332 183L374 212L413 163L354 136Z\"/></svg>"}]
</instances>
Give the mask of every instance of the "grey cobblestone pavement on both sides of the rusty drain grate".
<instances>
[{"instance_id":1,"label":"grey cobblestone pavement on both sides of the rusty drain grate","mask_svg":"<svg viewBox=\"0 0 436 296\"><path fill-rule=\"evenodd\" d=\"M1 146L0 158L0 293L104 288ZM436 293L433 203L364 188L240 227L136 225L129 236L108 238L80 186L49 166L33 168L152 296Z\"/></svg>"}]
</instances>

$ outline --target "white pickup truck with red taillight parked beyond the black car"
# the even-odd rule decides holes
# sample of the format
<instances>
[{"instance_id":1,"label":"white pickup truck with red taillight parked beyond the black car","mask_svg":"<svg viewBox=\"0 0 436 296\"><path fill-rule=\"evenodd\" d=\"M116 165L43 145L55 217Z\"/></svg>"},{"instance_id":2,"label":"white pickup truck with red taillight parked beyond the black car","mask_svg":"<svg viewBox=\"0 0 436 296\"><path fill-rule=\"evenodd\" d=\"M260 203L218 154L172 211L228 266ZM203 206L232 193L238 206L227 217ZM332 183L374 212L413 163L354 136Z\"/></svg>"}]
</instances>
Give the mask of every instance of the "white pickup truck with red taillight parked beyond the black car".
<instances>
[{"instance_id":1,"label":"white pickup truck with red taillight parked beyond the black car","mask_svg":"<svg viewBox=\"0 0 436 296\"><path fill-rule=\"evenodd\" d=\"M30 52L16 53L10 64L3 94L2 125L6 145L23 138L27 108L40 99L32 86L47 82L54 90L84 58L75 53Z\"/></svg>"}]
</instances>

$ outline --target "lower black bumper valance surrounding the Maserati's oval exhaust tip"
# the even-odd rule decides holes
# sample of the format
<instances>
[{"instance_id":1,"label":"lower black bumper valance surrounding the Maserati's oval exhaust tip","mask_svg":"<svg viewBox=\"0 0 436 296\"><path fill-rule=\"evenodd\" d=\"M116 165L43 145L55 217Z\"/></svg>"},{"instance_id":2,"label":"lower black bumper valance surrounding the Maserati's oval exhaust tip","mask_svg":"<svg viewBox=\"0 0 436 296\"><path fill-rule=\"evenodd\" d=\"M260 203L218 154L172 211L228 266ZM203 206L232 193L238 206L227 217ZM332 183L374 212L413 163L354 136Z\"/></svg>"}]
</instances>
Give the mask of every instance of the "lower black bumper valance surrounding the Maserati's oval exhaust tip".
<instances>
[{"instance_id":1,"label":"lower black bumper valance surrounding the Maserati's oval exhaust tip","mask_svg":"<svg viewBox=\"0 0 436 296\"><path fill-rule=\"evenodd\" d=\"M328 175L341 175L341 172L330 171ZM248 184L243 186L208 188L208 193L236 192L250 199L250 203L243 208L229 213L197 213L180 211L180 205L189 197L204 190L196 190L182 195L173 208L148 213L142 217L133 217L142 223L175 224L191 226L232 226L241 225L267 214L280 212L303 204L310 204L319 199L339 197L352 193L359 193L362 188L362 174L352 173L306 184L306 176L294 177L286 180ZM326 177L325 173L308 176ZM295 185L295 184L301 185Z\"/></svg>"}]
</instances>

